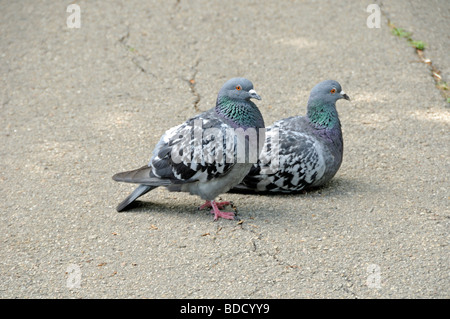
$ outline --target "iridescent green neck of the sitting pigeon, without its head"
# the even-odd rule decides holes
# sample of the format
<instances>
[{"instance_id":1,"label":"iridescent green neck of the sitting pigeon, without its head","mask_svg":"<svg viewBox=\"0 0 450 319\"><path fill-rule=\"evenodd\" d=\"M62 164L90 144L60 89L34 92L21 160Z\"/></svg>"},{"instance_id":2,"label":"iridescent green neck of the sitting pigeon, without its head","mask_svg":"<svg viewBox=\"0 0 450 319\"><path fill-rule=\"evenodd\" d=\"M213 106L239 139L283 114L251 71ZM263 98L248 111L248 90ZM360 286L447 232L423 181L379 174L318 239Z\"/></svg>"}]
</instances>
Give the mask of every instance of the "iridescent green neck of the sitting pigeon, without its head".
<instances>
[{"instance_id":1,"label":"iridescent green neck of the sitting pigeon, without its head","mask_svg":"<svg viewBox=\"0 0 450 319\"><path fill-rule=\"evenodd\" d=\"M333 129L341 126L335 103L310 100L308 101L307 117L316 128Z\"/></svg>"}]
</instances>

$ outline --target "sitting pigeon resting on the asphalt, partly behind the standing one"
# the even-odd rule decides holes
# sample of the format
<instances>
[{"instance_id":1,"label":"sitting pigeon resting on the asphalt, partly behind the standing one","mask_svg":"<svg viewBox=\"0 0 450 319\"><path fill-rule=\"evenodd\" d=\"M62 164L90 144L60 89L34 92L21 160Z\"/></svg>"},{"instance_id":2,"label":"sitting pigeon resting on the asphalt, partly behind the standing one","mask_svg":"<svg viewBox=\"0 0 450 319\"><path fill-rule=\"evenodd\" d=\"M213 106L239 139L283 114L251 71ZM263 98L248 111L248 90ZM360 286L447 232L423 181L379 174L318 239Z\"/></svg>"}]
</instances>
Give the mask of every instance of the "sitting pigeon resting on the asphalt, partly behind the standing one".
<instances>
[{"instance_id":1,"label":"sitting pigeon resting on the asphalt, partly behind the standing one","mask_svg":"<svg viewBox=\"0 0 450 319\"><path fill-rule=\"evenodd\" d=\"M266 128L259 160L233 190L294 193L322 186L342 163L343 138L336 101L350 100L333 80L310 93L306 116L293 116Z\"/></svg>"}]
</instances>

